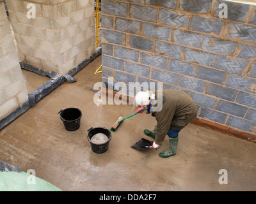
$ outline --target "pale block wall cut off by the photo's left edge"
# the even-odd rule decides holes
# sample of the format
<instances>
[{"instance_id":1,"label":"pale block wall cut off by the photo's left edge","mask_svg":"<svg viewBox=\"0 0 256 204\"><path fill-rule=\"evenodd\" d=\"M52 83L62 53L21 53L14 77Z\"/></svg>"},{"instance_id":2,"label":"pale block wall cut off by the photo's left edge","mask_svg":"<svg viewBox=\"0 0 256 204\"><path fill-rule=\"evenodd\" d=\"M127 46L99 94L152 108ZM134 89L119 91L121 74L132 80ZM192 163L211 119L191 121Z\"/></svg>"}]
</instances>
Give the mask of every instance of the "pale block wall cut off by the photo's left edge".
<instances>
[{"instance_id":1,"label":"pale block wall cut off by the photo's left edge","mask_svg":"<svg viewBox=\"0 0 256 204\"><path fill-rule=\"evenodd\" d=\"M0 1L0 120L27 100L19 58L4 3Z\"/></svg>"}]
</instances>

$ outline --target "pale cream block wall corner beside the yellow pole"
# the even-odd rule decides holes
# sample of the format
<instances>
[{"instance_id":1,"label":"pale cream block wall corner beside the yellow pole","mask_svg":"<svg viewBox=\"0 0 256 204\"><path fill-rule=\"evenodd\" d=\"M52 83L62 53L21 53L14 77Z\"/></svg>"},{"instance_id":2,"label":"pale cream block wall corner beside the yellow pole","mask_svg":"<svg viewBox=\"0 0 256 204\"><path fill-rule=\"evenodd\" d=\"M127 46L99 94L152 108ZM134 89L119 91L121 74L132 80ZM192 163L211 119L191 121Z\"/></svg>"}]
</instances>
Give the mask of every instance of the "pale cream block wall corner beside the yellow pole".
<instances>
[{"instance_id":1,"label":"pale cream block wall corner beside the yellow pole","mask_svg":"<svg viewBox=\"0 0 256 204\"><path fill-rule=\"evenodd\" d=\"M35 18L28 4L35 5ZM6 0L19 59L59 74L95 52L93 0Z\"/></svg>"}]
</instances>

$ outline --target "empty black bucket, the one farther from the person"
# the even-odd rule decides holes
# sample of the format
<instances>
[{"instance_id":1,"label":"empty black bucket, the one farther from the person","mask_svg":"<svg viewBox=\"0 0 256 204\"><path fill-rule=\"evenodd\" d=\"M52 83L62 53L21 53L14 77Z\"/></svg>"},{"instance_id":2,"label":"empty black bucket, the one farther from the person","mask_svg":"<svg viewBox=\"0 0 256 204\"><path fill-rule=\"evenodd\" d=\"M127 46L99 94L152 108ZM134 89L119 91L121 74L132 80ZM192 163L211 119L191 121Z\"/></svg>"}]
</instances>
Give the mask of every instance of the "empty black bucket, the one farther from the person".
<instances>
[{"instance_id":1,"label":"empty black bucket, the one farther from the person","mask_svg":"<svg viewBox=\"0 0 256 204\"><path fill-rule=\"evenodd\" d=\"M65 108L58 112L67 131L76 131L80 128L82 112L78 108Z\"/></svg>"}]
</instances>

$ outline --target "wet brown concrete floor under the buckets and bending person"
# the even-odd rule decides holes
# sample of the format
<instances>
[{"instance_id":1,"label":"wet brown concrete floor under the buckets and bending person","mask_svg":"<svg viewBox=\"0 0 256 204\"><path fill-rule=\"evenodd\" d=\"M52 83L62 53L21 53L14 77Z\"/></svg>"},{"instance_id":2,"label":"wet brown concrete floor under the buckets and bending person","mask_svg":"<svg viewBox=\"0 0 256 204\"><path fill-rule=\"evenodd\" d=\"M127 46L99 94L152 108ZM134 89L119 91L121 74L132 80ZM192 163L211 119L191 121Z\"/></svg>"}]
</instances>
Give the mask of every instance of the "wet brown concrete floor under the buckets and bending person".
<instances>
[{"instance_id":1,"label":"wet brown concrete floor under the buckets and bending person","mask_svg":"<svg viewBox=\"0 0 256 204\"><path fill-rule=\"evenodd\" d=\"M92 152L87 129L110 129L119 116L135 112L131 105L93 103L95 92L84 88L101 81L101 73L93 74L100 64L101 56L74 76L77 82L65 82L3 129L0 160L33 169L63 191L255 191L255 143L193 124L180 132L177 155L168 159L158 156L168 148L167 137L159 150L131 148L141 138L150 140L143 129L152 129L156 120L146 113L122 122L107 152ZM24 75L29 91L45 80ZM58 115L67 107L83 112L77 131L66 131ZM228 184L219 184L221 169Z\"/></svg>"}]
</instances>

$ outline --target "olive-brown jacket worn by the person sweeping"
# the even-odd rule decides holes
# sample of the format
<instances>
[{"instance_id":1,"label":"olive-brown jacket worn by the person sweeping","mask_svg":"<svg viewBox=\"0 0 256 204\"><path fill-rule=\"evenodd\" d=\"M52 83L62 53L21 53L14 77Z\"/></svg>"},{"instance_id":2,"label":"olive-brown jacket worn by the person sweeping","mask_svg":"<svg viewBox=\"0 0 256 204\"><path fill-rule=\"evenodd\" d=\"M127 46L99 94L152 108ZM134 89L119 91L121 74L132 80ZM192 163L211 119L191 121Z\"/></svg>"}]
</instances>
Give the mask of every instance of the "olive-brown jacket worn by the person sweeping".
<instances>
[{"instance_id":1,"label":"olive-brown jacket worn by the person sweeping","mask_svg":"<svg viewBox=\"0 0 256 204\"><path fill-rule=\"evenodd\" d=\"M161 92L156 91L156 99L161 96ZM158 105L158 104L157 104ZM163 90L162 110L152 108L152 115L157 120L157 144L161 144L170 128L182 129L196 118L196 105L193 99L184 91L172 89Z\"/></svg>"}]
</instances>

